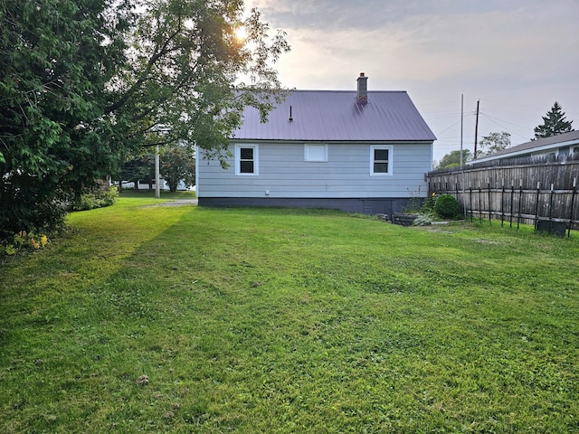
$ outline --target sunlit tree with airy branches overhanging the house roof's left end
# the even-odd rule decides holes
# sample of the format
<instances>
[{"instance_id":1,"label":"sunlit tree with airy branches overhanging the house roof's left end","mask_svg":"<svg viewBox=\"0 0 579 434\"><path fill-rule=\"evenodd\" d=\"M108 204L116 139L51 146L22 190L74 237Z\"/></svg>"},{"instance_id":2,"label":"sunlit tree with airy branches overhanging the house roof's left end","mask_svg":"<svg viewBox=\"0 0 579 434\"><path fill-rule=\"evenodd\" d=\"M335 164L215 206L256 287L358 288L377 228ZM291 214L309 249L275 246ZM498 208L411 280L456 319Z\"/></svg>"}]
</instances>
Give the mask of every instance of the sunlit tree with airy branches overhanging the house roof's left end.
<instances>
[{"instance_id":1,"label":"sunlit tree with airy branches overhanging the house roof's left end","mask_svg":"<svg viewBox=\"0 0 579 434\"><path fill-rule=\"evenodd\" d=\"M289 51L284 33L270 38L255 9L242 20L240 0L152 0L142 7L106 112L141 146L196 144L223 163L242 109L252 105L266 118L280 97L272 65Z\"/></svg>"}]
</instances>

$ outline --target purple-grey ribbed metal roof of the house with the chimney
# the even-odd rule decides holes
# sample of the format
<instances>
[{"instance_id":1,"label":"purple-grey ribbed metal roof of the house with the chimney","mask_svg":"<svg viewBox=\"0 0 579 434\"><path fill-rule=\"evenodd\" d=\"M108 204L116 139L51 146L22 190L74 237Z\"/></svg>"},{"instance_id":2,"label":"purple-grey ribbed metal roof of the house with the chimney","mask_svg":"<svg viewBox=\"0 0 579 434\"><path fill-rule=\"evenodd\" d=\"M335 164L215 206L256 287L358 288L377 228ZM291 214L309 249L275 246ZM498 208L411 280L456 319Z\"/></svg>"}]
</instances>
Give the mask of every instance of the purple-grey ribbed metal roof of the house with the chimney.
<instances>
[{"instance_id":1,"label":"purple-grey ribbed metal roof of the house with the chimney","mask_svg":"<svg viewBox=\"0 0 579 434\"><path fill-rule=\"evenodd\" d=\"M291 110L291 118L289 113ZM431 141L432 130L405 91L369 91L358 103L356 91L292 90L268 122L245 109L234 138L245 140Z\"/></svg>"}]
</instances>

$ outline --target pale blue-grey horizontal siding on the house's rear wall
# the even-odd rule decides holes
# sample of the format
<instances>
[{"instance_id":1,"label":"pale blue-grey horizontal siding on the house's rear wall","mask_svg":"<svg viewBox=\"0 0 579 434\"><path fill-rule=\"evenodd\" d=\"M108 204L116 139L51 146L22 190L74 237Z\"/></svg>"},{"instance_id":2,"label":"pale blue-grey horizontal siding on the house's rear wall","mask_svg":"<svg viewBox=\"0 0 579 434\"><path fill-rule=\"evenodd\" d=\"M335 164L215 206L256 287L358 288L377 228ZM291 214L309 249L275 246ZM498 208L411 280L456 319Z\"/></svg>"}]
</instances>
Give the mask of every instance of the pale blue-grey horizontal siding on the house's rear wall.
<instances>
[{"instance_id":1,"label":"pale blue-grey horizontal siding on the house's rear wall","mask_svg":"<svg viewBox=\"0 0 579 434\"><path fill-rule=\"evenodd\" d=\"M259 145L259 175L235 175L203 159L197 170L197 196L203 198L356 198L425 197L424 174L432 168L432 142L328 143L327 162L304 161L304 143L236 142ZM320 142L323 143L323 142ZM370 146L391 145L392 175L370 174ZM231 146L234 155L234 145ZM266 193L267 192L267 193Z\"/></svg>"}]
</instances>

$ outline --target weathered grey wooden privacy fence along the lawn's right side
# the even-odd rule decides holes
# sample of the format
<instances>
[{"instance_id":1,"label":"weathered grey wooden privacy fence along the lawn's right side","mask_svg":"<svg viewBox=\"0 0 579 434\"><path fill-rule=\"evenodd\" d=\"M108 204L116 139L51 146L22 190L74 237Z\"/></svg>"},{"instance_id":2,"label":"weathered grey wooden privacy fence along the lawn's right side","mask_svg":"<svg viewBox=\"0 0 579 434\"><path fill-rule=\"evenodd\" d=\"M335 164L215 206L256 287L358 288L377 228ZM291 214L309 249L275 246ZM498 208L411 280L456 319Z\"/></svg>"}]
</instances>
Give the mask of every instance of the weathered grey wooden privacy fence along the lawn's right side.
<instances>
[{"instance_id":1,"label":"weathered grey wooden privacy fence along the lawn's right side","mask_svg":"<svg viewBox=\"0 0 579 434\"><path fill-rule=\"evenodd\" d=\"M454 195L471 220L533 224L567 236L579 229L579 159L489 162L427 178L430 193Z\"/></svg>"}]
</instances>

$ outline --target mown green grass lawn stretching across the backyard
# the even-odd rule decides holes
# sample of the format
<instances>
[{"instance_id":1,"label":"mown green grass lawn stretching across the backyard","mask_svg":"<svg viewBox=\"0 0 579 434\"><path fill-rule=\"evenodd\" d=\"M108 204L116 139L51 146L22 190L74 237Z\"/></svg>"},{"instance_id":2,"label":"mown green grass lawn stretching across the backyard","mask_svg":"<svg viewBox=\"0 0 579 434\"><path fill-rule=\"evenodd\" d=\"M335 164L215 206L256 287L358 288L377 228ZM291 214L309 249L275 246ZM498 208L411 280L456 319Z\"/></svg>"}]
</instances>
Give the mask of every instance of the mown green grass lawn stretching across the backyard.
<instances>
[{"instance_id":1,"label":"mown green grass lawn stretching across the backyard","mask_svg":"<svg viewBox=\"0 0 579 434\"><path fill-rule=\"evenodd\" d=\"M0 265L0 432L579 431L578 234L158 204Z\"/></svg>"}]
</instances>

